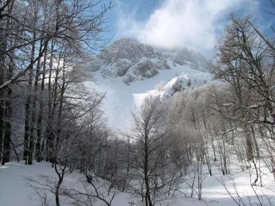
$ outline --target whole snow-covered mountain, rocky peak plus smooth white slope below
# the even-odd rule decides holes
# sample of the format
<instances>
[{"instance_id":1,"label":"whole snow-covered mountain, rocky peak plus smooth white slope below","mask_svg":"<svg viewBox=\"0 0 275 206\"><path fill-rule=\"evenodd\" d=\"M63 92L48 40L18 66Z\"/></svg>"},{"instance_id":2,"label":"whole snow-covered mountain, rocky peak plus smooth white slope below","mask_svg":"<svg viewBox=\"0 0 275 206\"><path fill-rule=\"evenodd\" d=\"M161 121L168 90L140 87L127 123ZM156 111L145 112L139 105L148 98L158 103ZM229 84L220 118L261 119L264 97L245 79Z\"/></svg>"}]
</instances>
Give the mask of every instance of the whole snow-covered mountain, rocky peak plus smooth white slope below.
<instances>
[{"instance_id":1,"label":"whole snow-covered mountain, rocky peak plus smooth white slope below","mask_svg":"<svg viewBox=\"0 0 275 206\"><path fill-rule=\"evenodd\" d=\"M122 38L88 62L87 87L106 92L104 111L111 126L131 125L131 111L147 95L167 97L186 87L210 82L208 61L187 49L159 49ZM119 121L118 121L119 119Z\"/></svg>"}]
</instances>

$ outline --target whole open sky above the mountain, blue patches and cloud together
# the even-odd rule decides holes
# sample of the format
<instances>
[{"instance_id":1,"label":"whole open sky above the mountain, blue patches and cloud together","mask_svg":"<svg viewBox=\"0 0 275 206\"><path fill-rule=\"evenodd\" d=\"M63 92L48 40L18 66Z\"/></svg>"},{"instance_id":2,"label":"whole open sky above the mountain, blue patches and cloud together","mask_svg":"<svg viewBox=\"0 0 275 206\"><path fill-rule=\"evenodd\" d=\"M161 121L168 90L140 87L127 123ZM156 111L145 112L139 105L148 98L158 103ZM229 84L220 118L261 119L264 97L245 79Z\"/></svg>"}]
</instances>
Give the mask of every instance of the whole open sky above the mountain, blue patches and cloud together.
<instances>
[{"instance_id":1,"label":"whole open sky above the mountain, blue patches and cloud together","mask_svg":"<svg viewBox=\"0 0 275 206\"><path fill-rule=\"evenodd\" d=\"M108 0L104 0L108 1ZM114 41L132 37L158 47L187 47L203 54L212 53L228 15L253 15L256 25L271 33L275 11L269 0L112 0L115 7L107 14Z\"/></svg>"}]
</instances>

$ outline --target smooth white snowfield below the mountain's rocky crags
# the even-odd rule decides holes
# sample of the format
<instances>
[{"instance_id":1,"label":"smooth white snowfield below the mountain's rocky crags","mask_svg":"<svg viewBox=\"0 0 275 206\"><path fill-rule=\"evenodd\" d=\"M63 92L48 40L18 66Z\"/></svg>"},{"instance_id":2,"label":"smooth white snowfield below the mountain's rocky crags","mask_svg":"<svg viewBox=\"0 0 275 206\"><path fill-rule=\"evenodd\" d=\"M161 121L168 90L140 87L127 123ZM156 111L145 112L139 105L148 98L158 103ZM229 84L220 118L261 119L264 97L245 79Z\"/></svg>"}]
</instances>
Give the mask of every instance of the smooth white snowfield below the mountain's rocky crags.
<instances>
[{"instance_id":1,"label":"smooth white snowfield below the mountain's rocky crags","mask_svg":"<svg viewBox=\"0 0 275 206\"><path fill-rule=\"evenodd\" d=\"M88 88L96 88L102 93L106 92L104 113L108 115L109 123L114 128L125 128L131 126L131 111L140 106L147 95L159 94L159 91L155 89L157 84L162 83L167 89L167 87L172 87L173 81L175 82L177 78L184 78L190 79L193 87L199 87L212 79L212 74L190 69L190 65L175 65L170 61L168 65L171 69L159 70L157 76L131 82L129 85L125 84L120 77L103 78L100 70L93 73L94 82L85 83Z\"/></svg>"}]
</instances>

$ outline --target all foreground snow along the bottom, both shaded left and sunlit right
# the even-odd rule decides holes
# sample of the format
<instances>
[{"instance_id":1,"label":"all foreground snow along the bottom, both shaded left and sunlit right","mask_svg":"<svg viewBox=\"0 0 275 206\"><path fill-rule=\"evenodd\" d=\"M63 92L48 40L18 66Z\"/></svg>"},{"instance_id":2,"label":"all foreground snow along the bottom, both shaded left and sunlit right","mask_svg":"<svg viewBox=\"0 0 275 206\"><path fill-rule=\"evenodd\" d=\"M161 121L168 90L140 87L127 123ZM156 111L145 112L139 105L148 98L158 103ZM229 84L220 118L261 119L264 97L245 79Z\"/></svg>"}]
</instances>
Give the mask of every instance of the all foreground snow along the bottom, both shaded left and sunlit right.
<instances>
[{"instance_id":1,"label":"all foreground snow along the bottom, both shaded left and sunlit right","mask_svg":"<svg viewBox=\"0 0 275 206\"><path fill-rule=\"evenodd\" d=\"M206 165L203 165L203 183L202 183L202 201L197 200L197 188L193 198L190 198L190 187L186 183L181 184L181 192L183 194L176 194L173 197L163 197L160 198L156 205L222 205L231 206L236 205L232 198L228 195L223 185L220 183L221 179L224 180L225 185L228 190L232 193L235 198L236 192L234 187L232 187L232 179L234 176L234 183L236 183L236 190L243 197L243 201L249 205L249 201L252 205L257 204L257 198L254 194L250 181L254 181L254 174L252 173L252 179L250 179L250 172L246 170L243 172L240 166L236 163L230 165L231 173L226 176L222 176L218 167L213 165L213 176L209 176ZM254 189L259 194L259 198L263 198L266 205L272 205L275 203L274 191L269 188L274 188L274 179L272 175L269 174L262 168L265 174L263 175L263 187L254 186ZM38 206L41 205L41 198L37 194L33 187L30 187L30 181L27 178L41 180L42 176L50 176L55 179L57 176L54 172L54 168L51 167L50 163L34 163L34 165L24 165L24 162L20 163L11 162L6 165L0 166L0 205L3 206ZM65 181L63 185L66 187L78 187L79 180L81 179L80 174L72 172L65 175ZM186 176L186 181L191 181L192 174ZM196 183L195 183L196 184ZM261 192L264 193L261 196ZM249 198L248 198L249 197ZM48 205L55 205L54 194L47 192ZM270 201L270 203L268 203ZM72 205L72 199L65 198L61 196L61 205ZM135 203L134 205L142 205L140 199L137 196L132 196L126 192L120 192L115 195L112 205L114 206L128 206L130 203ZM100 202L96 202L94 205L104 205Z\"/></svg>"}]
</instances>

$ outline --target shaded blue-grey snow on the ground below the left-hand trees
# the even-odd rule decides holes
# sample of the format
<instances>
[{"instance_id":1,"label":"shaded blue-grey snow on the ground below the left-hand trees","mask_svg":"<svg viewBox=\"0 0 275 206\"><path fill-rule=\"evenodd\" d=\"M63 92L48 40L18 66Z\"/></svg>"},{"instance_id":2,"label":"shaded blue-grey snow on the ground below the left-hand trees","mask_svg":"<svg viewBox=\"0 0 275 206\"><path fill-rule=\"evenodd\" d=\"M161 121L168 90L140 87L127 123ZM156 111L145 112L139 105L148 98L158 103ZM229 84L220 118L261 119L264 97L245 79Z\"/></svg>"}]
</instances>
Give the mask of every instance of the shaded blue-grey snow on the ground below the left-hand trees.
<instances>
[{"instance_id":1,"label":"shaded blue-grey snow on the ground below the left-hand trees","mask_svg":"<svg viewBox=\"0 0 275 206\"><path fill-rule=\"evenodd\" d=\"M39 206L41 198L39 193L30 184L39 186L28 179L34 179L39 183L45 183L42 176L47 176L54 181L57 180L57 174L50 163L34 163L34 165L25 165L25 161L10 162L0 166L0 205L1 206ZM76 189L79 187L82 176L76 172L65 174L63 187ZM48 184L51 185L50 183ZM51 185L52 186L52 185ZM41 187L41 186L39 186ZM62 187L62 186L61 186ZM47 187L48 188L48 187ZM41 193L41 196L44 196ZM72 199L61 196L61 205L72 205ZM117 194L113 200L113 205L128 206L129 194ZM48 206L55 205L55 196L52 192L47 192ZM95 205L102 205L99 201Z\"/></svg>"}]
</instances>

